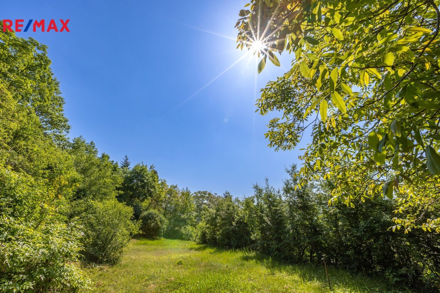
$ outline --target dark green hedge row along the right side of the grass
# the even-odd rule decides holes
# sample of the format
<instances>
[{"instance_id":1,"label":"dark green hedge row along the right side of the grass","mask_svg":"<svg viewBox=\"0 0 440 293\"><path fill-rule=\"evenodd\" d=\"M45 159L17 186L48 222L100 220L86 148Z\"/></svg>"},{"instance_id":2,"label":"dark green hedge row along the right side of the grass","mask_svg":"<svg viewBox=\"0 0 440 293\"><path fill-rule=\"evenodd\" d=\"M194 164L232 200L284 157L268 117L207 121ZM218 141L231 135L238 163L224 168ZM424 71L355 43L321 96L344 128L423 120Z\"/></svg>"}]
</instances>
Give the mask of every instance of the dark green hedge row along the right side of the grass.
<instances>
[{"instance_id":1,"label":"dark green hedge row along the right side of the grass","mask_svg":"<svg viewBox=\"0 0 440 293\"><path fill-rule=\"evenodd\" d=\"M434 233L387 231L396 201L376 198L355 208L328 206L330 180L297 184L296 165L282 189L254 184L254 195L227 193L205 208L196 240L222 248L245 247L289 263L327 264L380 275L391 283L438 291L440 240ZM438 214L429 215L438 216Z\"/></svg>"}]
</instances>

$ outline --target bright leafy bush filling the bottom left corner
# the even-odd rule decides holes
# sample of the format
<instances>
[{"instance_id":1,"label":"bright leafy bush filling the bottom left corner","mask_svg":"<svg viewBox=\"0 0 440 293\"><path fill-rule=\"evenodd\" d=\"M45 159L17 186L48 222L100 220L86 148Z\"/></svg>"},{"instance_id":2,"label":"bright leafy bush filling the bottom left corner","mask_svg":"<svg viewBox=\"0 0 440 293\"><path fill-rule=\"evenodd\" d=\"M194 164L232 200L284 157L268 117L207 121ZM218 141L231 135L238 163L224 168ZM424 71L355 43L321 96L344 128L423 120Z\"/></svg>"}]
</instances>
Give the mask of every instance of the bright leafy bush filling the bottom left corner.
<instances>
[{"instance_id":1,"label":"bright leafy bush filling the bottom left corner","mask_svg":"<svg viewBox=\"0 0 440 293\"><path fill-rule=\"evenodd\" d=\"M71 292L88 285L75 264L82 234L26 174L0 166L0 292Z\"/></svg>"}]
</instances>

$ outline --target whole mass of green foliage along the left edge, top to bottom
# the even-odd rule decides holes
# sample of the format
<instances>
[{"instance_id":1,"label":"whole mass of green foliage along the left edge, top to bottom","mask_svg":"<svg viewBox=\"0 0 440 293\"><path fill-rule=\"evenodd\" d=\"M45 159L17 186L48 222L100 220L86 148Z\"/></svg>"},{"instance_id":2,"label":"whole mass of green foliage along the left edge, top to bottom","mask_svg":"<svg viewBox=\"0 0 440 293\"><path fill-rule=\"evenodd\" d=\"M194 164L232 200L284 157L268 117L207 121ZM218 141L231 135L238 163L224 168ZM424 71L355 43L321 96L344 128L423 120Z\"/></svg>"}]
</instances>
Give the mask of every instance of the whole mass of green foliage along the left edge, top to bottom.
<instances>
[{"instance_id":1,"label":"whole mass of green foliage along the left edge, top to bottom","mask_svg":"<svg viewBox=\"0 0 440 293\"><path fill-rule=\"evenodd\" d=\"M0 22L0 29L2 29ZM87 286L77 267L82 237L66 217L79 176L46 47L0 35L0 288L68 292Z\"/></svg>"}]
</instances>

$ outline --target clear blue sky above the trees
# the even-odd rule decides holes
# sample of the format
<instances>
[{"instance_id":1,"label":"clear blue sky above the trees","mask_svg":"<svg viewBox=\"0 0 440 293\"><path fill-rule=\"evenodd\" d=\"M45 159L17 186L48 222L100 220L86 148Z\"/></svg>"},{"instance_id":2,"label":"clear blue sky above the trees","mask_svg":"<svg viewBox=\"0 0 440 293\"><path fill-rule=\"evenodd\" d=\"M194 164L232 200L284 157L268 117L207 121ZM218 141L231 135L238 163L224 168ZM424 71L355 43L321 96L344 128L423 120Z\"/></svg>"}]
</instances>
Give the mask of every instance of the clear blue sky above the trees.
<instances>
[{"instance_id":1,"label":"clear blue sky above the trees","mask_svg":"<svg viewBox=\"0 0 440 293\"><path fill-rule=\"evenodd\" d=\"M254 112L255 89L286 69L268 64L255 83L256 59L246 57L213 81L245 51L205 31L235 38L244 4L20 1L5 3L1 18L70 19L70 33L17 33L49 47L70 137L115 161L154 164L169 184L242 196L264 177L280 186L302 153L268 148L269 117ZM291 58L280 61L287 68Z\"/></svg>"}]
</instances>

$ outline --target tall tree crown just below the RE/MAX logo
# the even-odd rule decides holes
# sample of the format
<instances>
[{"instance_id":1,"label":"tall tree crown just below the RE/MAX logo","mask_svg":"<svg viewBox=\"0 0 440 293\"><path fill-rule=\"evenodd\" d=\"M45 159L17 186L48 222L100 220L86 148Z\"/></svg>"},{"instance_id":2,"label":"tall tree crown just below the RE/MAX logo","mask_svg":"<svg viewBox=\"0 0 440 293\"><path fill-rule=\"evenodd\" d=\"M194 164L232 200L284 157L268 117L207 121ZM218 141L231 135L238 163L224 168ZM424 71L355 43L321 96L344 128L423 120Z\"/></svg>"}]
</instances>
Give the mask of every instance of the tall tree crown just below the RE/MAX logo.
<instances>
[{"instance_id":1,"label":"tall tree crown just below the RE/MAX logo","mask_svg":"<svg viewBox=\"0 0 440 293\"><path fill-rule=\"evenodd\" d=\"M3 30L3 22L0 28ZM70 126L50 64L45 45L33 38L18 38L12 32L0 34L0 83L15 101L33 109L46 135L65 141Z\"/></svg>"}]
</instances>

